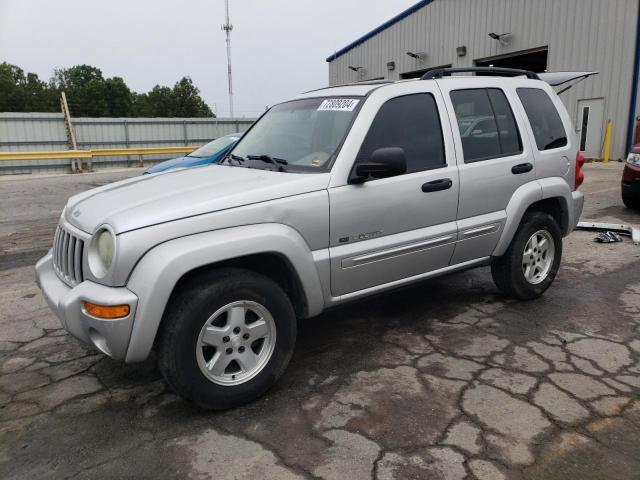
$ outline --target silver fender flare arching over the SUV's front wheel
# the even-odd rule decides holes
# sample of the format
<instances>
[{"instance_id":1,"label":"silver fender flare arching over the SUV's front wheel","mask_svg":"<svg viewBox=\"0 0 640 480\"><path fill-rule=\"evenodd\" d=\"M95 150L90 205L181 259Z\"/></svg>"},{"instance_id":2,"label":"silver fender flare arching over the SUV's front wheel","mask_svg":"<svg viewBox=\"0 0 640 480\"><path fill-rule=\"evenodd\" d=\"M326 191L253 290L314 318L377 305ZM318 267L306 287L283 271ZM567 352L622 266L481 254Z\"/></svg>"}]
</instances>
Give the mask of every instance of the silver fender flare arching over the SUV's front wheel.
<instances>
[{"instance_id":1,"label":"silver fender flare arching over the SUV's front wheel","mask_svg":"<svg viewBox=\"0 0 640 480\"><path fill-rule=\"evenodd\" d=\"M198 267L258 253L277 253L286 258L300 279L308 315L322 311L324 299L313 254L293 228L266 223L178 238L147 252L130 277L127 288L138 296L139 302L126 362L142 361L149 355L167 301L184 274Z\"/></svg>"}]
</instances>

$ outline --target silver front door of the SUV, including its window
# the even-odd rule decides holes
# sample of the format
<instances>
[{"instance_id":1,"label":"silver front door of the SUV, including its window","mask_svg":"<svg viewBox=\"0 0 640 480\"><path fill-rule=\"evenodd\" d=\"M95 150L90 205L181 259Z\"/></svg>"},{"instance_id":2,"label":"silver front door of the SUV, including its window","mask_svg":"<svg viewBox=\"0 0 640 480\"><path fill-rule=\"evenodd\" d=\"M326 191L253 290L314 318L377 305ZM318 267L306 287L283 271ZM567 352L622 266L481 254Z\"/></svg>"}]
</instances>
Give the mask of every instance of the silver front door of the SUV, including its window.
<instances>
[{"instance_id":1,"label":"silver front door of the SUV, including its window","mask_svg":"<svg viewBox=\"0 0 640 480\"><path fill-rule=\"evenodd\" d=\"M329 189L334 297L449 265L457 239L458 169L440 94L427 82L418 87L422 91L406 92L415 85L387 87L392 95L379 100L355 158L367 162L379 148L400 147L407 172Z\"/></svg>"}]
</instances>

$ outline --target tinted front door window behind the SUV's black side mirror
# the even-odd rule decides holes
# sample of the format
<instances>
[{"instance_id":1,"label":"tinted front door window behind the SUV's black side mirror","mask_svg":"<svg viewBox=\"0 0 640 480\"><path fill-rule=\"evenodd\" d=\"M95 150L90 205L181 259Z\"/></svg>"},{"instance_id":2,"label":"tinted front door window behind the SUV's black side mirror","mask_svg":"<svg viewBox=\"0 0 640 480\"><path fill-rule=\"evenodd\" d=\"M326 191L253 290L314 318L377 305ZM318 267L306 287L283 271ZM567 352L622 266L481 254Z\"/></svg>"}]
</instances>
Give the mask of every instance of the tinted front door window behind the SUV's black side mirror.
<instances>
[{"instance_id":1,"label":"tinted front door window behind the SUV's black side mirror","mask_svg":"<svg viewBox=\"0 0 640 480\"><path fill-rule=\"evenodd\" d=\"M367 162L375 150L386 147L404 150L407 173L445 166L440 115L431 94L396 97L382 105L356 162Z\"/></svg>"}]
</instances>

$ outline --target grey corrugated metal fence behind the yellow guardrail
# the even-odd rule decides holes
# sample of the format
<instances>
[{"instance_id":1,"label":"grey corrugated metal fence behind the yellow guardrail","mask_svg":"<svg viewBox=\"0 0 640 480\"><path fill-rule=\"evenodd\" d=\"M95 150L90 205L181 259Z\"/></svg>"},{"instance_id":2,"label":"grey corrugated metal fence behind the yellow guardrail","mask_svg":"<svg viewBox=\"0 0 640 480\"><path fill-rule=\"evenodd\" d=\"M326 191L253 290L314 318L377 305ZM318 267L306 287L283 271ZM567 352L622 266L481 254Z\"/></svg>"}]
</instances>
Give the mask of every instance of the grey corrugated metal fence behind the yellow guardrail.
<instances>
[{"instance_id":1,"label":"grey corrugated metal fence behind the yellow guardrail","mask_svg":"<svg viewBox=\"0 0 640 480\"><path fill-rule=\"evenodd\" d=\"M223 135L242 132L252 118L74 118L78 149L178 147L202 145ZM0 152L67 150L61 113L0 113ZM174 155L175 156L175 155ZM155 163L171 158L145 158ZM93 160L93 168L136 165L137 156L112 156ZM70 161L4 161L0 174L68 172Z\"/></svg>"}]
</instances>

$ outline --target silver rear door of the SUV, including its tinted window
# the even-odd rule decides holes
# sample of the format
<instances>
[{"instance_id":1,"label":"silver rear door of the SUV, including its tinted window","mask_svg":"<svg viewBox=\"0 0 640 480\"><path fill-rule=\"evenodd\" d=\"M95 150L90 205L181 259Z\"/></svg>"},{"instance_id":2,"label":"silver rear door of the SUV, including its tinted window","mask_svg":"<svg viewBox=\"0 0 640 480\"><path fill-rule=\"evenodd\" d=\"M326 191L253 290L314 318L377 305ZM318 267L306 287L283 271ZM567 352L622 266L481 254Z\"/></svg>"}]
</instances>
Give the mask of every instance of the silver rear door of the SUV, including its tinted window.
<instances>
[{"instance_id":1,"label":"silver rear door of the SUV, including its tinted window","mask_svg":"<svg viewBox=\"0 0 640 480\"><path fill-rule=\"evenodd\" d=\"M535 180L531 148L515 109L515 91L499 80L440 81L453 125L460 173L458 243L451 263L491 255L504 227L507 204ZM481 84L479 88L477 85ZM484 85L483 85L484 84Z\"/></svg>"}]
</instances>

